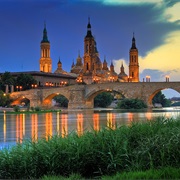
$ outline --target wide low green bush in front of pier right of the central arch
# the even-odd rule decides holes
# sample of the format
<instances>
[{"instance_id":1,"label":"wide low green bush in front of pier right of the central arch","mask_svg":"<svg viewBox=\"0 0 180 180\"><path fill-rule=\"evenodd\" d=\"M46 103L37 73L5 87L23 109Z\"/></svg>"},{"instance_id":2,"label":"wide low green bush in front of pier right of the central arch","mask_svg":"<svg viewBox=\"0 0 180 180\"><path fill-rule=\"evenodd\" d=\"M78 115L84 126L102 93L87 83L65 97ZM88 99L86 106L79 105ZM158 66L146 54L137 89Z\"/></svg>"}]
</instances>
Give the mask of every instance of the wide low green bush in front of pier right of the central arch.
<instances>
[{"instance_id":1,"label":"wide low green bush in front of pier right of the central arch","mask_svg":"<svg viewBox=\"0 0 180 180\"><path fill-rule=\"evenodd\" d=\"M118 109L143 109L147 108L147 105L141 99L128 99L120 100L117 104Z\"/></svg>"}]
</instances>

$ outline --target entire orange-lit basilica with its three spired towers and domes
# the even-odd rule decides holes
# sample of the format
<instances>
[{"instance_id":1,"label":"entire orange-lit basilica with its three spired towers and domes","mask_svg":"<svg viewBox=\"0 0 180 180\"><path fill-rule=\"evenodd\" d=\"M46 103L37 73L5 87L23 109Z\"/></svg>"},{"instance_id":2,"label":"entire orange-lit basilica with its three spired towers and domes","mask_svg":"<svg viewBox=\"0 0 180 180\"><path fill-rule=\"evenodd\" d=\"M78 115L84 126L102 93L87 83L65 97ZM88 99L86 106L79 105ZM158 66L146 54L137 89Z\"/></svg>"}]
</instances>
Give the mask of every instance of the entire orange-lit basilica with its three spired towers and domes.
<instances>
[{"instance_id":1,"label":"entire orange-lit basilica with its three spired towers and domes","mask_svg":"<svg viewBox=\"0 0 180 180\"><path fill-rule=\"evenodd\" d=\"M43 30L43 39L41 41L41 57L39 60L40 72L52 73L52 59L50 57L50 42L47 36L46 26ZM64 74L76 77L78 84L92 84L105 82L139 82L139 62L138 49L136 48L135 37L132 38L132 46L129 50L129 75L125 73L123 64L120 67L120 73L114 71L114 65L111 61L108 67L106 58L101 61L94 36L91 31L90 19L88 19L87 33L84 38L84 55L81 58L80 53L76 62L72 63L70 72L62 68L62 62L58 61L57 69L54 74Z\"/></svg>"}]
</instances>

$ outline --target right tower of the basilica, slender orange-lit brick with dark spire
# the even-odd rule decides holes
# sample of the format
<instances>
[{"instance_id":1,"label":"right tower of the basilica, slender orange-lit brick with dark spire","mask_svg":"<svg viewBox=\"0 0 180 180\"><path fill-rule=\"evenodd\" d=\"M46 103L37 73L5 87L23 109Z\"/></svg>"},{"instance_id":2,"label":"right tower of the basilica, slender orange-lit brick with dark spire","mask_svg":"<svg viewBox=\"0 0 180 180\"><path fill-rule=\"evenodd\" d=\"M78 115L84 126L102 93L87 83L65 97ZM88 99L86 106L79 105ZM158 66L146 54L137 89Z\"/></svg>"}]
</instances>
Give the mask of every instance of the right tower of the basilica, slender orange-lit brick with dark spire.
<instances>
[{"instance_id":1,"label":"right tower of the basilica, slender orange-lit brick with dark spire","mask_svg":"<svg viewBox=\"0 0 180 180\"><path fill-rule=\"evenodd\" d=\"M131 82L139 82L138 49L136 48L134 33L132 38L132 47L129 51L129 78Z\"/></svg>"}]
</instances>

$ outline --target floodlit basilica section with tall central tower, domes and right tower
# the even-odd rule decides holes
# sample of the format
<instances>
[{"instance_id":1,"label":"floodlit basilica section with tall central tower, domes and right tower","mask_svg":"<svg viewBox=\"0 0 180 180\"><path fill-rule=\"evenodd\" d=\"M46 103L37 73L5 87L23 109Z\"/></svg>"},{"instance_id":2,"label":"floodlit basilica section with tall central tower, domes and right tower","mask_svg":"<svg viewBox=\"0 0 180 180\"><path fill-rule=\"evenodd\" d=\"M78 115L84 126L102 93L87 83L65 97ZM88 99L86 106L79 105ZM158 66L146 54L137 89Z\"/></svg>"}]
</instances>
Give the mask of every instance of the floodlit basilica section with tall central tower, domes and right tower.
<instances>
[{"instance_id":1,"label":"floodlit basilica section with tall central tower, domes and right tower","mask_svg":"<svg viewBox=\"0 0 180 180\"><path fill-rule=\"evenodd\" d=\"M87 33L84 38L84 56L78 55L76 64L72 64L71 73L78 75L77 83L105 83L105 82L139 82L139 62L138 49L136 48L135 37L133 34L132 47L129 51L129 76L125 73L123 64L120 73L114 71L111 61L108 67L106 58L101 62L97 43L92 35L90 19L88 20Z\"/></svg>"}]
</instances>

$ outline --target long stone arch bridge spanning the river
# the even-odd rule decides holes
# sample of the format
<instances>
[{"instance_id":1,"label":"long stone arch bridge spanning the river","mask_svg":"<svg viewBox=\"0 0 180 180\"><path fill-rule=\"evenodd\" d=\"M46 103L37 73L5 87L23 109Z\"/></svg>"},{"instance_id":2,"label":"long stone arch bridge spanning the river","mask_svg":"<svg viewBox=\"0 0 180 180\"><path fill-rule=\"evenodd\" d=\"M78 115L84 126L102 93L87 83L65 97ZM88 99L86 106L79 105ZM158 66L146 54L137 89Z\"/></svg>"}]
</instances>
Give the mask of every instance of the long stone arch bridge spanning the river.
<instances>
[{"instance_id":1,"label":"long stone arch bridge spanning the river","mask_svg":"<svg viewBox=\"0 0 180 180\"><path fill-rule=\"evenodd\" d=\"M58 94L68 100L68 108L93 108L94 97L102 92L119 92L126 98L138 98L144 100L148 106L152 106L152 98L164 89L173 89L180 93L180 82L111 82L90 85L72 85L66 87L37 88L26 91L13 92L12 104L20 104L22 99L30 100L30 106L51 107L52 98Z\"/></svg>"}]
</instances>

